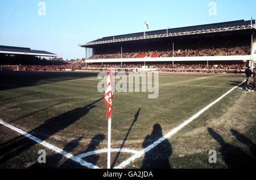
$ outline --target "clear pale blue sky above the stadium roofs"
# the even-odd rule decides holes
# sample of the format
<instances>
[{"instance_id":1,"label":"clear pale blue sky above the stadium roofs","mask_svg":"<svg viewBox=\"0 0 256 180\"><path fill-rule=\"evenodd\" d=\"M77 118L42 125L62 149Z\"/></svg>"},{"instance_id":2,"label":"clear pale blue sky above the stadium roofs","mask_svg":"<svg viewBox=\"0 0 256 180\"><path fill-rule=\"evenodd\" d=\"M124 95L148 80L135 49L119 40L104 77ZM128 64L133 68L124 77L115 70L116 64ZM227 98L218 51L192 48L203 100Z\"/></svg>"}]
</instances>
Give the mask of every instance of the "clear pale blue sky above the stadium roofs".
<instances>
[{"instance_id":1,"label":"clear pale blue sky above the stadium roofs","mask_svg":"<svg viewBox=\"0 0 256 180\"><path fill-rule=\"evenodd\" d=\"M39 16L39 2L46 15ZM0 0L0 44L85 57L86 43L98 37L256 17L255 0ZM216 2L217 15L209 15Z\"/></svg>"}]
</instances>

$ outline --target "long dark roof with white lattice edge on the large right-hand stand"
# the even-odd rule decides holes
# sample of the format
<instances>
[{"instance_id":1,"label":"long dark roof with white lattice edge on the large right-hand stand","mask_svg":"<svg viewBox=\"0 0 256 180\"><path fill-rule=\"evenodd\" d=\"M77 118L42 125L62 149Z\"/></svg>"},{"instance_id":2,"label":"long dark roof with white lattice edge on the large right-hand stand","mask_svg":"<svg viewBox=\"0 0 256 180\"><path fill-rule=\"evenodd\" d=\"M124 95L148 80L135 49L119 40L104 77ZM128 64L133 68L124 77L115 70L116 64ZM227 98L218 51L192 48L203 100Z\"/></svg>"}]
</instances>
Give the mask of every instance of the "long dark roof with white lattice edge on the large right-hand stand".
<instances>
[{"instance_id":1,"label":"long dark roof with white lattice edge on the large right-hand stand","mask_svg":"<svg viewBox=\"0 0 256 180\"><path fill-rule=\"evenodd\" d=\"M90 47L97 44L117 43L122 41L142 40L142 39L154 39L160 37L193 35L193 34L205 34L211 32L225 32L236 30L248 30L256 29L254 20L235 20L230 22L203 24L189 27L170 28L165 30L147 31L147 36L144 36L144 32L138 32L126 35L108 36L102 39L90 41L86 44L80 44L80 47ZM168 34L167 34L168 32Z\"/></svg>"}]
</instances>

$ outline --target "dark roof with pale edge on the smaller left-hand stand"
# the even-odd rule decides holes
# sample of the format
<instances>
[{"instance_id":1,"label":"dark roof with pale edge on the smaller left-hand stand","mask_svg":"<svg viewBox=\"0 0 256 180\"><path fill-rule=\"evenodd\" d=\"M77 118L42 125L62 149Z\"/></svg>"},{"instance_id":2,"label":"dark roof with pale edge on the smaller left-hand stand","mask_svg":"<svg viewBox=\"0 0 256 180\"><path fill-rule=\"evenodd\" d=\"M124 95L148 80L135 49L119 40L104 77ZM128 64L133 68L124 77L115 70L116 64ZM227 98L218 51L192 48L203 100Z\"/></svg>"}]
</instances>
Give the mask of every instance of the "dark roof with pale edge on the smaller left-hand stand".
<instances>
[{"instance_id":1,"label":"dark roof with pale edge on the smaller left-hand stand","mask_svg":"<svg viewBox=\"0 0 256 180\"><path fill-rule=\"evenodd\" d=\"M0 53L11 54L11 55L31 55L31 56L49 56L49 57L59 56L47 51L32 50L30 48L12 47L7 45L0 45Z\"/></svg>"}]
</instances>

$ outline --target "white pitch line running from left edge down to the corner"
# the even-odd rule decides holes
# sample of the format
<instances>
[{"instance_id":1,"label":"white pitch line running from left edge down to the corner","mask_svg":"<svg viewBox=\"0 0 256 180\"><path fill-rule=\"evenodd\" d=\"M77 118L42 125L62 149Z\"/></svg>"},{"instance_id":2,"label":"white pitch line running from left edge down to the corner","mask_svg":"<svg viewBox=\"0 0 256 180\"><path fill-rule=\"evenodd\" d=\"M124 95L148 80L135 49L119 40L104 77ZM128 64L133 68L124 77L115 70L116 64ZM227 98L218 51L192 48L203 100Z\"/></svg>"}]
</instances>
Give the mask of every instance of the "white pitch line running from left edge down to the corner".
<instances>
[{"instance_id":1,"label":"white pitch line running from left edge down to the corner","mask_svg":"<svg viewBox=\"0 0 256 180\"><path fill-rule=\"evenodd\" d=\"M46 143L46 141L40 140L38 137L30 135L29 133L22 131L22 129L16 128L11 124L5 123L5 122L3 122L2 119L0 119L0 124L4 125L7 128L12 129L13 131L16 131L16 132L20 133L21 135L31 139L32 141L35 141L38 144L41 144L41 145L45 146L48 149L51 149L51 150L65 156L65 157L71 159L72 161L75 161L75 162L79 163L82 166L85 166L86 168L99 169L98 166L93 165L89 162L86 162L86 161L82 160L80 157L74 156L73 154L68 153L63 149L57 148L56 146L54 146L52 144Z\"/></svg>"}]
</instances>

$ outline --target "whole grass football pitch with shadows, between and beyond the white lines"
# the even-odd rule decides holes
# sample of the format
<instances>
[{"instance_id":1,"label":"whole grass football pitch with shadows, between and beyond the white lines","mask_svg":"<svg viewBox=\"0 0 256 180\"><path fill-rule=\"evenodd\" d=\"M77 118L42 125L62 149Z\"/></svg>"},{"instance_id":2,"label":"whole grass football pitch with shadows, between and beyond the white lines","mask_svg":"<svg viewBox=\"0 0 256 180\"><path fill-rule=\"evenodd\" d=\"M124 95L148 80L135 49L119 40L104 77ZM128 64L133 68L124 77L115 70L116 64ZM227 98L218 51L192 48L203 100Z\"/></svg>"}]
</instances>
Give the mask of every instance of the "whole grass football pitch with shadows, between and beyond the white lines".
<instances>
[{"instance_id":1,"label":"whole grass football pitch with shadows, between and beyond the white lines","mask_svg":"<svg viewBox=\"0 0 256 180\"><path fill-rule=\"evenodd\" d=\"M115 93L112 148L142 150L243 82L240 74L160 73L159 97ZM106 168L108 122L97 73L1 72L0 118L82 160ZM126 168L255 167L256 93L235 89ZM250 103L248 103L250 102ZM0 168L85 168L0 125ZM45 149L47 163L38 163ZM209 164L209 150L217 164ZM113 167L131 152L113 152Z\"/></svg>"}]
</instances>

